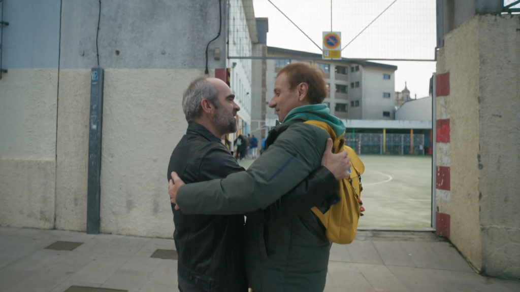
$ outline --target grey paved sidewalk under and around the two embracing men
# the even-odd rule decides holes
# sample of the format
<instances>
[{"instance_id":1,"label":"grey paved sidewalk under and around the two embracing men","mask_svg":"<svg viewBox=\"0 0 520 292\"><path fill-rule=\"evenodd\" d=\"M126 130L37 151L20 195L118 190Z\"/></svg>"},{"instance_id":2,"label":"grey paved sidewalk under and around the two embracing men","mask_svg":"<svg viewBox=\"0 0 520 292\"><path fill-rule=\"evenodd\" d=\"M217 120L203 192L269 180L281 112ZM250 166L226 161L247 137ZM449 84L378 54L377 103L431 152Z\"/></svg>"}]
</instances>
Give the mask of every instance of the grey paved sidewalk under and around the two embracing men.
<instances>
[{"instance_id":1,"label":"grey paved sidewalk under and around the two embracing men","mask_svg":"<svg viewBox=\"0 0 520 292\"><path fill-rule=\"evenodd\" d=\"M52 244L73 250L45 249ZM173 249L162 238L0 228L0 291L178 291ZM476 274L432 233L360 231L352 244L332 246L325 291L513 292L520 282Z\"/></svg>"}]
</instances>

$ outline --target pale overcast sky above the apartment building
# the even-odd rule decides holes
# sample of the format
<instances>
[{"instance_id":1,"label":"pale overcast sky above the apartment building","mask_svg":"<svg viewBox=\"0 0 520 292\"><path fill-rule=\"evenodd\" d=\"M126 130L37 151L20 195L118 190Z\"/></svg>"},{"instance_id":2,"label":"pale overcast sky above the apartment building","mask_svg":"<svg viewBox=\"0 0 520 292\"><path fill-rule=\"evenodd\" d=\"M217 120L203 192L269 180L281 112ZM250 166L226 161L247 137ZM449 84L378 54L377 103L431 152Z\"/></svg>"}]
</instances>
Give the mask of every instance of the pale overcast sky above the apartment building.
<instances>
[{"instance_id":1,"label":"pale overcast sky above the apartment building","mask_svg":"<svg viewBox=\"0 0 520 292\"><path fill-rule=\"evenodd\" d=\"M231 0L240 1L240 0ZM330 0L271 0L321 48L322 32L331 30ZM332 31L345 47L394 0L333 0ZM320 49L267 0L253 0L255 17L269 18L267 45L321 53ZM344 58L433 60L435 0L397 0L343 51ZM428 96L435 62L374 61L397 65L395 89L405 82L413 97Z\"/></svg>"}]
</instances>

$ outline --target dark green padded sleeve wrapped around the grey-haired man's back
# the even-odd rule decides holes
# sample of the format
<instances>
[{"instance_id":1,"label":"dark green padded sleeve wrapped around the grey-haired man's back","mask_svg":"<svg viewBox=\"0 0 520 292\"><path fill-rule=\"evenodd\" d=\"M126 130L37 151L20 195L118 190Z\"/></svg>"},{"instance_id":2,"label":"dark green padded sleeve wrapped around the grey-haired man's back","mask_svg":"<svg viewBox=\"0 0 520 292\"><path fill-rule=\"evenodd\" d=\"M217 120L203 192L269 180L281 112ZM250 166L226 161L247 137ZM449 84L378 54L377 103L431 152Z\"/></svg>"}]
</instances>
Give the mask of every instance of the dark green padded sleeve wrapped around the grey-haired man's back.
<instances>
[{"instance_id":1,"label":"dark green padded sleeve wrapped around the grey-haired man's back","mask_svg":"<svg viewBox=\"0 0 520 292\"><path fill-rule=\"evenodd\" d=\"M176 201L186 214L242 214L264 209L320 166L329 135L297 123L284 131L246 171L183 185Z\"/></svg>"}]
</instances>

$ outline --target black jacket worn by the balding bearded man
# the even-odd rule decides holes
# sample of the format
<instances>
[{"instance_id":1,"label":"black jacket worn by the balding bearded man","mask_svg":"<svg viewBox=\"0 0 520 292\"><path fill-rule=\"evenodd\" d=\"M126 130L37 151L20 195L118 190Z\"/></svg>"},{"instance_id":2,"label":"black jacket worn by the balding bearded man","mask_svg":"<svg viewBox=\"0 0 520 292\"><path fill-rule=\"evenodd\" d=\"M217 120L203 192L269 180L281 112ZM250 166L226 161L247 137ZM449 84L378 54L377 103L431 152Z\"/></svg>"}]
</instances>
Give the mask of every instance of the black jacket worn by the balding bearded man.
<instances>
[{"instance_id":1,"label":"black jacket worn by the balding bearded man","mask_svg":"<svg viewBox=\"0 0 520 292\"><path fill-rule=\"evenodd\" d=\"M202 125L189 123L186 135L170 158L167 179L171 179L172 171L185 183L193 183L225 178L243 170L219 138ZM334 175L320 167L265 210L245 215L266 224L276 223L335 195L331 185L337 185ZM243 260L244 214L187 215L174 207L172 204L178 276L205 291L247 291Z\"/></svg>"}]
</instances>

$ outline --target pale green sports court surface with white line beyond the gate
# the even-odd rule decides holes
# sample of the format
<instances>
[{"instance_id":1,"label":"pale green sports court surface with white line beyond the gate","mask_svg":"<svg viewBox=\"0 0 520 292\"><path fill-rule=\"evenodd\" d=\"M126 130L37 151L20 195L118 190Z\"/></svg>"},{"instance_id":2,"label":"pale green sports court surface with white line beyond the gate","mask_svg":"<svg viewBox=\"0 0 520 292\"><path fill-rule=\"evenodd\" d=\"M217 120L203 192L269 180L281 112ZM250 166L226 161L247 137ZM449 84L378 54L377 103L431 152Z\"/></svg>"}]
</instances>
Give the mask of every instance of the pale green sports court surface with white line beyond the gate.
<instances>
[{"instance_id":1,"label":"pale green sports court surface with white line beyond the gate","mask_svg":"<svg viewBox=\"0 0 520 292\"><path fill-rule=\"evenodd\" d=\"M362 229L429 229L432 216L432 156L361 155L365 216ZM239 162L245 168L253 163Z\"/></svg>"}]
</instances>

